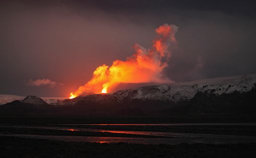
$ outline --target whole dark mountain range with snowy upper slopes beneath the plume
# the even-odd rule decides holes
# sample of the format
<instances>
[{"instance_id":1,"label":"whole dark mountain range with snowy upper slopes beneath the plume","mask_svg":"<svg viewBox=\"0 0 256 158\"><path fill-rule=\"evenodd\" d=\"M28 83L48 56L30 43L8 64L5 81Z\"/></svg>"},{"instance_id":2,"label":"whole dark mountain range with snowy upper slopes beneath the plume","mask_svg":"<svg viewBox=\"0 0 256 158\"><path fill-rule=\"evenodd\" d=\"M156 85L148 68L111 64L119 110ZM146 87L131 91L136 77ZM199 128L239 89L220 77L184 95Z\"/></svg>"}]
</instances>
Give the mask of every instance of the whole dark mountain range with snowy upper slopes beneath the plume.
<instances>
[{"instance_id":1,"label":"whole dark mountain range with snowy upper slopes beneath the plume","mask_svg":"<svg viewBox=\"0 0 256 158\"><path fill-rule=\"evenodd\" d=\"M42 110L41 114L46 115L244 115L256 112L255 96L256 74L249 74L55 99L53 104L61 106L52 106L39 97L28 96L25 101L0 106L0 113L14 108L28 111L32 108L33 112L25 113L40 114Z\"/></svg>"}]
</instances>

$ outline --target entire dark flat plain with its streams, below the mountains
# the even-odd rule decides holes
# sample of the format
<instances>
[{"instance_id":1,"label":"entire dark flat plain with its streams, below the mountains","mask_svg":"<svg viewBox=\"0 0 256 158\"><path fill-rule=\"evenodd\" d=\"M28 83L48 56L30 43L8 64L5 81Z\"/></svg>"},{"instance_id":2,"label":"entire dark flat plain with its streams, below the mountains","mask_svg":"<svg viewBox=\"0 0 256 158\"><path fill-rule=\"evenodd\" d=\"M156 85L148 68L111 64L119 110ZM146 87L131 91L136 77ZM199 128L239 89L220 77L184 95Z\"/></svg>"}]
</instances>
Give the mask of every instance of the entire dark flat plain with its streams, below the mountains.
<instances>
[{"instance_id":1,"label":"entire dark flat plain with its streams, below the mountains","mask_svg":"<svg viewBox=\"0 0 256 158\"><path fill-rule=\"evenodd\" d=\"M0 157L256 157L254 116L0 118Z\"/></svg>"}]
</instances>

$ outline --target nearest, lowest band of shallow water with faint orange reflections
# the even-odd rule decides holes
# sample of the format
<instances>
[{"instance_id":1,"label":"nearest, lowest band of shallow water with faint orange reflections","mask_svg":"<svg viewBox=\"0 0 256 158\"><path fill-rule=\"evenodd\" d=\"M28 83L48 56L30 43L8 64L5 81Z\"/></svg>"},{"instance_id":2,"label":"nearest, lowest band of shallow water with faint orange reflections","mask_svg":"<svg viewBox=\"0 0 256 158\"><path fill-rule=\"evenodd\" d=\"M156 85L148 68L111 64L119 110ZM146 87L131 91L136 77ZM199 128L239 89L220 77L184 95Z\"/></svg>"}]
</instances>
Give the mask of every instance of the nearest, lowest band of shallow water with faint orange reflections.
<instances>
[{"instance_id":1,"label":"nearest, lowest band of shallow water with faint orange reflections","mask_svg":"<svg viewBox=\"0 0 256 158\"><path fill-rule=\"evenodd\" d=\"M5 135L5 134L1 134ZM102 137L102 136L63 136L63 135L32 135L32 134L7 134L6 136L17 136L25 138L84 141L100 143L142 143L142 144L180 144L180 143L238 143L256 142L254 136L227 136L227 137L166 137L166 138L144 138L144 137Z\"/></svg>"}]
</instances>

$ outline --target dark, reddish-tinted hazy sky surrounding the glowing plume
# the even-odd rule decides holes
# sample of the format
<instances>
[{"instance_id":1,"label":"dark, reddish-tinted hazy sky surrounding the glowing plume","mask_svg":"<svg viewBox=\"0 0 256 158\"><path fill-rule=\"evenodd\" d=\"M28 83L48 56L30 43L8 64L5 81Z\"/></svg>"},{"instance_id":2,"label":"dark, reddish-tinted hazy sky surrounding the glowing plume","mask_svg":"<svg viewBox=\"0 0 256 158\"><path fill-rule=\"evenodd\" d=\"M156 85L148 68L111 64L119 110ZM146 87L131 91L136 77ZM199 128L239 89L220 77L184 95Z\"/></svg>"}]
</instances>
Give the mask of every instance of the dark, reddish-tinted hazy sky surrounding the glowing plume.
<instances>
[{"instance_id":1,"label":"dark, reddish-tinted hazy sky surrounding the glowing plume","mask_svg":"<svg viewBox=\"0 0 256 158\"><path fill-rule=\"evenodd\" d=\"M0 94L68 96L134 43L150 48L164 23L179 27L170 79L256 73L252 0L19 0L0 9Z\"/></svg>"}]
</instances>

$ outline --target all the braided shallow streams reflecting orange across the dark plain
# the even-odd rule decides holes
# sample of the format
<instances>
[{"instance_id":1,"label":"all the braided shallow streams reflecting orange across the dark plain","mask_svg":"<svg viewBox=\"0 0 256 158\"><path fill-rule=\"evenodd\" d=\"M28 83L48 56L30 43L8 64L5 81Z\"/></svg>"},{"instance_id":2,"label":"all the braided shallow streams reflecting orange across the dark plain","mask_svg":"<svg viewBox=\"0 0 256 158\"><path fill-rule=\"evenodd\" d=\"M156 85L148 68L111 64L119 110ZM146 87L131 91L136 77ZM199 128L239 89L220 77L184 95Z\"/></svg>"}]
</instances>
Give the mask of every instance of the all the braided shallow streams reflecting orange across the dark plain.
<instances>
[{"instance_id":1,"label":"all the braided shallow streams reflecting orange across the dark plain","mask_svg":"<svg viewBox=\"0 0 256 158\"><path fill-rule=\"evenodd\" d=\"M181 123L179 125L253 125L255 123ZM57 124L56 124L57 125ZM58 124L60 125L60 124ZM67 124L65 124L67 125ZM69 124L79 125L79 124ZM106 124L80 124L80 125L106 125ZM122 124L109 124L122 125ZM152 124L124 124L124 125L152 125ZM156 125L156 124L154 124ZM157 124L160 125L160 124ZM167 125L167 124L165 124ZM168 124L177 125L177 124ZM163 136L161 138L153 137L105 137L105 136L66 136L66 135L33 135L33 134L2 134L8 136L18 136L27 138L53 139L64 141L84 141L84 142L126 142L126 143L143 143L143 144L180 144L180 143L238 143L238 142L256 142L256 136L245 135L224 135L224 134L208 134L208 133L183 133L183 132L160 132L160 131L132 131L132 130L103 130L91 128L75 128L63 126L31 126L31 125L0 125L0 127L16 127L16 128L42 128L42 129L58 129L68 131L97 131L111 133L126 134L142 134Z\"/></svg>"}]
</instances>

